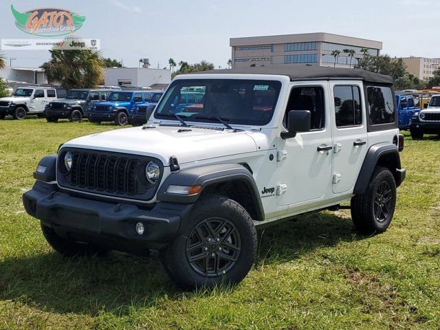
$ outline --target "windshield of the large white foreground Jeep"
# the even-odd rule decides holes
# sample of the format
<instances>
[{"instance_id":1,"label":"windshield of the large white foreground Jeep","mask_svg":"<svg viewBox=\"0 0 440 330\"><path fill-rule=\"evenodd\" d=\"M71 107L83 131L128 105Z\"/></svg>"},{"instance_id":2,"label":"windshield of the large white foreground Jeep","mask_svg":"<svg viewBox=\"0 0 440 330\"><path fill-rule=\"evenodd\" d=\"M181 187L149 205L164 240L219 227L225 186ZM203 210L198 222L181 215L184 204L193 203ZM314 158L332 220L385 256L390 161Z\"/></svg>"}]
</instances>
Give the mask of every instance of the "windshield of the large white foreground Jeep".
<instances>
[{"instance_id":1,"label":"windshield of the large white foreground Jeep","mask_svg":"<svg viewBox=\"0 0 440 330\"><path fill-rule=\"evenodd\" d=\"M272 119L281 82L274 80L175 80L159 103L155 118L228 124L265 125Z\"/></svg>"}]
</instances>

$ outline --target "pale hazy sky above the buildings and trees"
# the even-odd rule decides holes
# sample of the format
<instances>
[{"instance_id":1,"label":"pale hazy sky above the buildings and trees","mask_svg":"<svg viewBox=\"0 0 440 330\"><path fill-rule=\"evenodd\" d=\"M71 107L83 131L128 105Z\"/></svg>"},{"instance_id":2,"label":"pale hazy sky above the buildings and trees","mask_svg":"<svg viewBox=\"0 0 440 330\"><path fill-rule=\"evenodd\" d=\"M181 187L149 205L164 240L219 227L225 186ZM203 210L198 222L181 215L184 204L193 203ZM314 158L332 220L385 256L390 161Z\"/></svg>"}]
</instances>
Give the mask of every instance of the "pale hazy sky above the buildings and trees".
<instances>
[{"instance_id":1,"label":"pale hazy sky above the buildings and trees","mask_svg":"<svg viewBox=\"0 0 440 330\"><path fill-rule=\"evenodd\" d=\"M42 38L14 25L11 4L20 12L52 7L85 16L75 36L100 39L102 55L126 67L140 58L161 68L168 58L227 67L232 37L311 32L382 41L382 54L393 57L440 57L439 0L1 0L0 39ZM50 58L47 50L0 54L8 65L16 58L13 67L39 67Z\"/></svg>"}]
</instances>

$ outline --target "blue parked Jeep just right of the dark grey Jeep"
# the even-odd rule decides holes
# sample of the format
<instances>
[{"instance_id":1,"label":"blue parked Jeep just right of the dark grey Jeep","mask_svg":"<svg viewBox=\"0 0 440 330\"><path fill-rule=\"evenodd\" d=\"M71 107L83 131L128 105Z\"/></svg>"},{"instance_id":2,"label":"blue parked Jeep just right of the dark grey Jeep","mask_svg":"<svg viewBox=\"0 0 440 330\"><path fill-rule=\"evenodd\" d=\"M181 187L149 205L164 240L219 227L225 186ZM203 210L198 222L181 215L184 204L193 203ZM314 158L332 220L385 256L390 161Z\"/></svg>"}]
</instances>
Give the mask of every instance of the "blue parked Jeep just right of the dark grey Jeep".
<instances>
[{"instance_id":1,"label":"blue parked Jeep just right of the dark grey Jeep","mask_svg":"<svg viewBox=\"0 0 440 330\"><path fill-rule=\"evenodd\" d=\"M129 122L133 107L151 98L150 91L112 91L107 102L96 103L86 112L91 122L115 122L124 126Z\"/></svg>"}]
</instances>

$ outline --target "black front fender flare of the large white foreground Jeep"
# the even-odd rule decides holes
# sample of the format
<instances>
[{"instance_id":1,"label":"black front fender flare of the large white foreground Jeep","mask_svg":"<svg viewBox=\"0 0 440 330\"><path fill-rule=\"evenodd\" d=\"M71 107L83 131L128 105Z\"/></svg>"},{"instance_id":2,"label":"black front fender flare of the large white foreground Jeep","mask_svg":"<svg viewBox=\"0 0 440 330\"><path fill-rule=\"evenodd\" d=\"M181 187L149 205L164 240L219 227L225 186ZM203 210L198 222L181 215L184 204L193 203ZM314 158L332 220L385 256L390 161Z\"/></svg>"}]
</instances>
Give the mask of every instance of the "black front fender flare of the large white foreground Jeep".
<instances>
[{"instance_id":1,"label":"black front fender flare of the large white foreground Jeep","mask_svg":"<svg viewBox=\"0 0 440 330\"><path fill-rule=\"evenodd\" d=\"M252 173L241 164L213 164L179 170L166 177L157 192L157 200L171 203L195 203L208 186L228 181L241 181L248 188L257 221L264 220L263 203ZM179 195L167 192L168 186L201 186L195 195Z\"/></svg>"}]
</instances>

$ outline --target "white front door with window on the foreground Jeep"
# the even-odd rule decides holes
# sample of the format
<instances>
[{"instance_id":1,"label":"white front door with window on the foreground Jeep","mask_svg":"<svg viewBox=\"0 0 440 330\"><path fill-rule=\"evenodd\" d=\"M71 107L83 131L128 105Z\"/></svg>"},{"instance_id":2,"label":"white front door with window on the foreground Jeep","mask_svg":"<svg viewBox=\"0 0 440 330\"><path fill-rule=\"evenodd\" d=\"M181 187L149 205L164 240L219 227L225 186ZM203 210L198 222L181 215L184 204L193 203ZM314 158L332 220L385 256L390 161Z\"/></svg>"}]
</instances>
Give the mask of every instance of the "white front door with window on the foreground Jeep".
<instances>
[{"instance_id":1,"label":"white front door with window on the foreground Jeep","mask_svg":"<svg viewBox=\"0 0 440 330\"><path fill-rule=\"evenodd\" d=\"M275 187L278 206L320 201L326 198L329 190L331 192L333 143L328 98L327 82L300 83L290 91L283 125L286 125L288 111L309 110L311 130L287 140L278 137L278 185Z\"/></svg>"}]
</instances>

